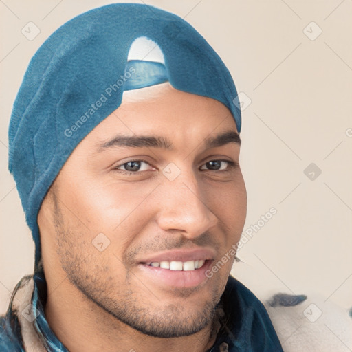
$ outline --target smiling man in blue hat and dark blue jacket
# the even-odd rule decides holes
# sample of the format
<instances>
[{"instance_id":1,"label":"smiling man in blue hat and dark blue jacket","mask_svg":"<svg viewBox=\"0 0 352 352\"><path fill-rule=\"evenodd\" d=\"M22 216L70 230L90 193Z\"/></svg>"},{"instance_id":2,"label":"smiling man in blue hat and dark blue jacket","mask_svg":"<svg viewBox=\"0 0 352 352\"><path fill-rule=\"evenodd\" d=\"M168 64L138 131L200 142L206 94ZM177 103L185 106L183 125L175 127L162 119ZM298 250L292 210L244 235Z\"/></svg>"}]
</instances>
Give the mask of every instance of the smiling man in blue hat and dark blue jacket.
<instances>
[{"instance_id":1,"label":"smiling man in blue hat and dark blue jacket","mask_svg":"<svg viewBox=\"0 0 352 352\"><path fill-rule=\"evenodd\" d=\"M247 206L235 98L208 43L150 6L92 10L42 45L9 131L34 276L1 351L282 351L230 276Z\"/></svg>"}]
</instances>

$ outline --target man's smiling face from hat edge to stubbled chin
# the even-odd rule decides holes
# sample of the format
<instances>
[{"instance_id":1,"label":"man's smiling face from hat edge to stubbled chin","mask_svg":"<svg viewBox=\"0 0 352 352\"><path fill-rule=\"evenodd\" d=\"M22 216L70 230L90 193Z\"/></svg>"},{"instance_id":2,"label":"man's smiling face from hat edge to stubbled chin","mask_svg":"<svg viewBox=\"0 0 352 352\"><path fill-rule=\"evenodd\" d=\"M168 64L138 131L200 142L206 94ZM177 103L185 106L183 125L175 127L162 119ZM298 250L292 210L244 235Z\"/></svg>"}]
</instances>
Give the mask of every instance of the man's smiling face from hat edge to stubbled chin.
<instances>
[{"instance_id":1,"label":"man's smiling face from hat edge to stubbled chin","mask_svg":"<svg viewBox=\"0 0 352 352\"><path fill-rule=\"evenodd\" d=\"M125 92L43 202L45 275L63 272L92 304L142 333L200 331L234 256L207 273L239 241L245 221L239 151L221 102L168 83Z\"/></svg>"}]
</instances>

